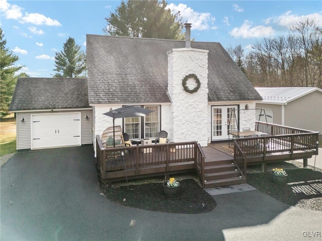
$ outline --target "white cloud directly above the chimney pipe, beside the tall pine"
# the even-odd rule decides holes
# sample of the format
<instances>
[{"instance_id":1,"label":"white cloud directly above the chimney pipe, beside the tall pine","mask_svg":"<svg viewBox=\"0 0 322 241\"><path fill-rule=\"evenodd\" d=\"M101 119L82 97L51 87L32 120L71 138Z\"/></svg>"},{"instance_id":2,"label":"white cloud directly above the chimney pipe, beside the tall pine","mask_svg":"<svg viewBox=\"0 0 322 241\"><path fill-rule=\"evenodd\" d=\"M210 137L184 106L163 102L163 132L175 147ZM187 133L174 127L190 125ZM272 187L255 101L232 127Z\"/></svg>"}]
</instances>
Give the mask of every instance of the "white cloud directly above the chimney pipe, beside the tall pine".
<instances>
[{"instance_id":1,"label":"white cloud directly above the chimney pipe, beside the tall pine","mask_svg":"<svg viewBox=\"0 0 322 241\"><path fill-rule=\"evenodd\" d=\"M183 22L191 23L193 29L207 30L210 28L209 24L212 25L215 22L215 18L210 13L195 12L185 4L179 4L178 6L169 4L167 8L176 13L180 11Z\"/></svg>"}]
</instances>

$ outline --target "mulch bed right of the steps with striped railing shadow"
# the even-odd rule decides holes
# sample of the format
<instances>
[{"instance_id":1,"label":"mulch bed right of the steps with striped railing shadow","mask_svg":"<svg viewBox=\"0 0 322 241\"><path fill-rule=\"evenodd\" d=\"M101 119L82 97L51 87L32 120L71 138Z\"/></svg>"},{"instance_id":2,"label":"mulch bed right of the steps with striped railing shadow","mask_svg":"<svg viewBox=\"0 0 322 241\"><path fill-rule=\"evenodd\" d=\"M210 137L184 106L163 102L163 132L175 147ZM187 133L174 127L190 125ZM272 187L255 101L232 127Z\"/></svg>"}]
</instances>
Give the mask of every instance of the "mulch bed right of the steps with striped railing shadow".
<instances>
[{"instance_id":1,"label":"mulch bed right of the steps with striped railing shadow","mask_svg":"<svg viewBox=\"0 0 322 241\"><path fill-rule=\"evenodd\" d=\"M272 182L270 172L248 173L247 182L281 202L322 211L322 173L305 168L286 170L286 173L286 183Z\"/></svg>"}]
</instances>

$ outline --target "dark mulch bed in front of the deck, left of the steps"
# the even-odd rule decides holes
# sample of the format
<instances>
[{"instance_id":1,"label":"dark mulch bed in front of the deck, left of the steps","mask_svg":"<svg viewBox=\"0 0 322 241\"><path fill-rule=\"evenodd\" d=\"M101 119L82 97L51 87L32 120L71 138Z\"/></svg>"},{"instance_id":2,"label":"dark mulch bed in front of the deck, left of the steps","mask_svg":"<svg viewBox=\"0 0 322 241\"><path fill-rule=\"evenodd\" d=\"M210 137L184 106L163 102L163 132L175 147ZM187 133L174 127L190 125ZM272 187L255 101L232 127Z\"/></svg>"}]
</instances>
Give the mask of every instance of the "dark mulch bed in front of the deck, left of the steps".
<instances>
[{"instance_id":1,"label":"dark mulch bed in front of the deck, left of the steps","mask_svg":"<svg viewBox=\"0 0 322 241\"><path fill-rule=\"evenodd\" d=\"M166 197L163 194L162 182L128 187L102 187L108 199L127 207L170 213L204 213L215 208L216 202L213 197L195 180L182 180L181 188L182 192L178 196Z\"/></svg>"}]
</instances>

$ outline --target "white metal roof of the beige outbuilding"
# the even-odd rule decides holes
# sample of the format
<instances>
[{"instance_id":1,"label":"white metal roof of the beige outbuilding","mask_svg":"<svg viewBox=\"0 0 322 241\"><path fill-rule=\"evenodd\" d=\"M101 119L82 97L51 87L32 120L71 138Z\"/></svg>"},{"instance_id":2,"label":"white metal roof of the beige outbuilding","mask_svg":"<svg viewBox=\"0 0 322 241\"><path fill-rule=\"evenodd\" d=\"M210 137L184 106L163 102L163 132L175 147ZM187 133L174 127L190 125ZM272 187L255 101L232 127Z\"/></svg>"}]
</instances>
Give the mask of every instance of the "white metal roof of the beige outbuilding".
<instances>
[{"instance_id":1,"label":"white metal roof of the beige outbuilding","mask_svg":"<svg viewBox=\"0 0 322 241\"><path fill-rule=\"evenodd\" d=\"M262 103L287 104L295 99L314 91L322 92L316 87L276 87L276 88L255 88L263 97Z\"/></svg>"}]
</instances>

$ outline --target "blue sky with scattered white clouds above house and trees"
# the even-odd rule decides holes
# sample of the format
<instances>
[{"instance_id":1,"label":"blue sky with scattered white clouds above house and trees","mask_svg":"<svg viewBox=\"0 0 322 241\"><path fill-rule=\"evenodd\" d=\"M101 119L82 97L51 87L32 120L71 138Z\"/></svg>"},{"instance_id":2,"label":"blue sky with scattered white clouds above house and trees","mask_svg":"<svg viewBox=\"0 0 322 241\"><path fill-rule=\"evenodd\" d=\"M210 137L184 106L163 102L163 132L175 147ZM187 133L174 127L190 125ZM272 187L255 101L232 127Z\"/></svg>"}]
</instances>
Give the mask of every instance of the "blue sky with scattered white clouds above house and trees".
<instances>
[{"instance_id":1,"label":"blue sky with scattered white clouds above house and trees","mask_svg":"<svg viewBox=\"0 0 322 241\"><path fill-rule=\"evenodd\" d=\"M170 1L183 21L192 24L195 41L220 42L224 48L250 46L264 37L288 32L301 20L322 27L320 1ZM105 18L120 1L0 0L1 28L17 65L31 77L51 77L55 52L68 37L86 50L86 34L104 35Z\"/></svg>"}]
</instances>

